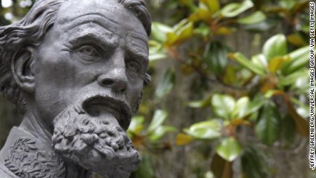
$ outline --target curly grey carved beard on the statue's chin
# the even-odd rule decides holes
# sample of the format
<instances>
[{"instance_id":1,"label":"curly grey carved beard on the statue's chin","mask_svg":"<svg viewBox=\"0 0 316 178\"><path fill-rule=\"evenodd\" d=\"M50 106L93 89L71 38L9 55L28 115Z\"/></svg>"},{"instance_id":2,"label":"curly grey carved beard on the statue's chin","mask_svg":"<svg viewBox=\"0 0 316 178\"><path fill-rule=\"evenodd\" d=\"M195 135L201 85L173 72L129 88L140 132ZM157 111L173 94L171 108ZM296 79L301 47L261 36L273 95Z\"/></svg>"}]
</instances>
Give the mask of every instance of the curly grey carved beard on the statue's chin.
<instances>
[{"instance_id":1,"label":"curly grey carved beard on the statue's chin","mask_svg":"<svg viewBox=\"0 0 316 178\"><path fill-rule=\"evenodd\" d=\"M69 107L54 120L52 142L65 160L104 177L127 178L140 164L140 155L115 116Z\"/></svg>"}]
</instances>

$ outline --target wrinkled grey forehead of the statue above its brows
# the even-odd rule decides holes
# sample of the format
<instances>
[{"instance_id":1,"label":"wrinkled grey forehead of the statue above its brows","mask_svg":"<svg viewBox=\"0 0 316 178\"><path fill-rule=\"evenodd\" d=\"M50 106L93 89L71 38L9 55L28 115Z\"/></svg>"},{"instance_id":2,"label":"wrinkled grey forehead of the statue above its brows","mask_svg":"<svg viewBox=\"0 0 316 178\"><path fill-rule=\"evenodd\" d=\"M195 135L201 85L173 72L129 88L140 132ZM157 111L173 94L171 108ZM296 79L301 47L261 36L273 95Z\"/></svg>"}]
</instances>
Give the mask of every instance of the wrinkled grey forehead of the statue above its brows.
<instances>
[{"instance_id":1,"label":"wrinkled grey forehead of the statue above its brows","mask_svg":"<svg viewBox=\"0 0 316 178\"><path fill-rule=\"evenodd\" d=\"M87 23L95 23L120 36L148 40L146 30L139 19L115 0L67 1L58 11L56 25L63 32Z\"/></svg>"}]
</instances>

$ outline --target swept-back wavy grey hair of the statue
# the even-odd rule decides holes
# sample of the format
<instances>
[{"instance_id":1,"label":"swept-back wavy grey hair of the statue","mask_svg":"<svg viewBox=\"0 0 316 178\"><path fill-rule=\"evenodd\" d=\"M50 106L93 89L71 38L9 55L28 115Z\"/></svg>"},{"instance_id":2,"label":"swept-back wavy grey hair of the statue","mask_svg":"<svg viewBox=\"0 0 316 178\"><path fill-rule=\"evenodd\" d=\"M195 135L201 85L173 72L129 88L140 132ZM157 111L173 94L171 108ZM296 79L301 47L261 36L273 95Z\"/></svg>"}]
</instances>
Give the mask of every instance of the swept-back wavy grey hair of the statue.
<instances>
[{"instance_id":1,"label":"swept-back wavy grey hair of the statue","mask_svg":"<svg viewBox=\"0 0 316 178\"><path fill-rule=\"evenodd\" d=\"M0 27L0 93L16 104L21 113L26 109L26 102L12 74L12 60L23 54L26 47L41 44L45 33L54 25L60 6L66 1L71 0L37 0L21 21ZM149 36L151 21L144 0L115 1L133 12ZM144 84L149 81L150 76L146 75Z\"/></svg>"}]
</instances>

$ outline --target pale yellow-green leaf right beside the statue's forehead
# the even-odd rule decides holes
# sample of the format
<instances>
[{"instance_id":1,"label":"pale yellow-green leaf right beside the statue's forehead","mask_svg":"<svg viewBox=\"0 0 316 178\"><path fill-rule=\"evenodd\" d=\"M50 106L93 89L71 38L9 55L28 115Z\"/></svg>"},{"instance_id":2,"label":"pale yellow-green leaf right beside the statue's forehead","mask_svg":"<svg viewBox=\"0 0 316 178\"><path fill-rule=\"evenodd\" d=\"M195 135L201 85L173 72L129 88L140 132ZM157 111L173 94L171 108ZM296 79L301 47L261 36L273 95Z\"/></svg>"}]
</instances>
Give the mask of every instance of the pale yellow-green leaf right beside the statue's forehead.
<instances>
[{"instance_id":1,"label":"pale yellow-green leaf right beside the statue's forehead","mask_svg":"<svg viewBox=\"0 0 316 178\"><path fill-rule=\"evenodd\" d=\"M151 36L153 39L164 43L167 40L167 33L172 32L172 28L159 22L153 22L151 25Z\"/></svg>"}]
</instances>

